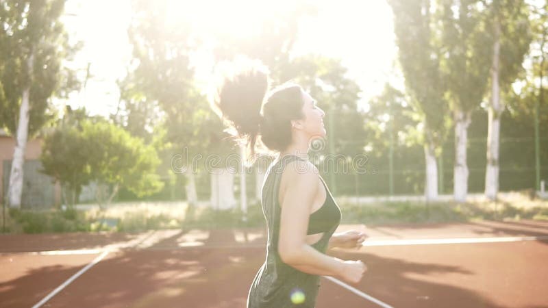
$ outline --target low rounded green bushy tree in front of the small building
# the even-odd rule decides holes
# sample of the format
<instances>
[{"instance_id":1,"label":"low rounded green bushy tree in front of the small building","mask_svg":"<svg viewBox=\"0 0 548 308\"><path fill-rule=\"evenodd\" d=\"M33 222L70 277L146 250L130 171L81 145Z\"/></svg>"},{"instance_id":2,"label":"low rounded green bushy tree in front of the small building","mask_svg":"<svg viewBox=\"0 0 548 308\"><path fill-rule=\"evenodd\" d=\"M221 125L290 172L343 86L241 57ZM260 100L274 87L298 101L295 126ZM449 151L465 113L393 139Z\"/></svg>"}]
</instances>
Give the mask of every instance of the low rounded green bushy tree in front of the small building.
<instances>
[{"instance_id":1,"label":"low rounded green bushy tree in front of the small building","mask_svg":"<svg viewBox=\"0 0 548 308\"><path fill-rule=\"evenodd\" d=\"M160 160L153 146L105 120L67 122L45 138L40 159L43 172L71 192L69 205L74 205L82 185L90 181L112 188L107 194L98 186L100 207L108 205L121 187L137 196L162 188L155 173Z\"/></svg>"}]
</instances>

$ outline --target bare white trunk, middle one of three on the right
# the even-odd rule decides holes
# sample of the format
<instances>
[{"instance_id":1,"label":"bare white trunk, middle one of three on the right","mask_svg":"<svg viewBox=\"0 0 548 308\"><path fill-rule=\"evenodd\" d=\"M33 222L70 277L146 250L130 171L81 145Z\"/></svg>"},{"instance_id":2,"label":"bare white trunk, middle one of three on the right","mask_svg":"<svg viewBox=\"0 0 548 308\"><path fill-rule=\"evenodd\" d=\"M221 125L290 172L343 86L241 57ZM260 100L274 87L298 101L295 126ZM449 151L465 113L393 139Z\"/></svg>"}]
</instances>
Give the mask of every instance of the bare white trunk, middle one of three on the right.
<instances>
[{"instance_id":1,"label":"bare white trunk, middle one of three on the right","mask_svg":"<svg viewBox=\"0 0 548 308\"><path fill-rule=\"evenodd\" d=\"M468 127L471 123L470 112L455 113L455 167L453 171L453 197L457 202L466 201L468 194L468 165L466 164L466 145Z\"/></svg>"}]
</instances>

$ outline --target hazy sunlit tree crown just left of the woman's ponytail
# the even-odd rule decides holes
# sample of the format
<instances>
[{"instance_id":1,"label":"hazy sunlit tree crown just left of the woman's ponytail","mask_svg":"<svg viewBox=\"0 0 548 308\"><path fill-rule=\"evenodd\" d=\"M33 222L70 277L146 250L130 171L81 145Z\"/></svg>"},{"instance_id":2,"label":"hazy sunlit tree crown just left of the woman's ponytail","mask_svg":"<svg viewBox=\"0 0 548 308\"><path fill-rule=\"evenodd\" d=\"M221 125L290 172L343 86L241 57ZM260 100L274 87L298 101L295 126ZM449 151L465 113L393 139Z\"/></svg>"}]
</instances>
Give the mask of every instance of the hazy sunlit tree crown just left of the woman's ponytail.
<instances>
[{"instance_id":1,"label":"hazy sunlit tree crown just left of the woman's ponytail","mask_svg":"<svg viewBox=\"0 0 548 308\"><path fill-rule=\"evenodd\" d=\"M116 122L147 144L165 144L160 151L162 174L169 170L173 151L186 151L188 157L230 152L221 142L227 136L221 120L195 86L189 54L196 44L190 25L184 19L166 24L169 1L134 1L132 9L129 39L137 65L119 84L123 110L114 116ZM148 14L151 11L155 14Z\"/></svg>"}]
</instances>

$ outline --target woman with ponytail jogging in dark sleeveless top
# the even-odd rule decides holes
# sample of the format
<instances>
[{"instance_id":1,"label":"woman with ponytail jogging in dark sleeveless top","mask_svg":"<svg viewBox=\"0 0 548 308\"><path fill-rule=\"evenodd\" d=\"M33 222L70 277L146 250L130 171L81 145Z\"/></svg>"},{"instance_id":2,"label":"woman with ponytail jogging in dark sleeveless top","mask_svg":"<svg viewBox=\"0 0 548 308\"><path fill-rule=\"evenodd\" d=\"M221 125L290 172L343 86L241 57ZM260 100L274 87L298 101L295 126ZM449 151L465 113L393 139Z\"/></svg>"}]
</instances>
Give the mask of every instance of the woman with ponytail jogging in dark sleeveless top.
<instances>
[{"instance_id":1,"label":"woman with ponytail jogging in dark sleeveless top","mask_svg":"<svg viewBox=\"0 0 548 308\"><path fill-rule=\"evenodd\" d=\"M266 261L256 274L248 308L314 307L321 275L358 283L366 270L362 261L325 255L327 248L359 247L358 231L334 234L340 209L308 161L310 141L326 135L325 112L295 84L268 90L264 66L248 64L225 76L213 107L255 154L260 140L279 152L262 186L261 204L268 227Z\"/></svg>"}]
</instances>

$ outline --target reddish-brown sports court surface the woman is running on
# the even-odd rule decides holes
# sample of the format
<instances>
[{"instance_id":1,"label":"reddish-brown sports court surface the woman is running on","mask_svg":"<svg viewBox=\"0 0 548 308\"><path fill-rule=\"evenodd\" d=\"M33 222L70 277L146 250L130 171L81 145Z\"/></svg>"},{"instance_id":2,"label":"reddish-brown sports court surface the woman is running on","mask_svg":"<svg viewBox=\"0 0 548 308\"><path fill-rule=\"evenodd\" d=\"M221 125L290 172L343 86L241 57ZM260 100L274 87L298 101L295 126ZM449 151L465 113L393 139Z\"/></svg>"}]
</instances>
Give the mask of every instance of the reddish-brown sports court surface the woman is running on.
<instances>
[{"instance_id":1,"label":"reddish-brown sports court surface the woman is running on","mask_svg":"<svg viewBox=\"0 0 548 308\"><path fill-rule=\"evenodd\" d=\"M340 229L360 228L342 226ZM482 222L366 229L375 240L546 236L542 222ZM258 230L157 231L147 234L0 236L0 306L32 307L97 254L31 255L23 251L112 251L42 307L245 307L249 283L264 261ZM197 246L202 245L202 246ZM548 307L545 240L333 251L362 259L357 287L393 307ZM317 308L379 307L322 279Z\"/></svg>"}]
</instances>

